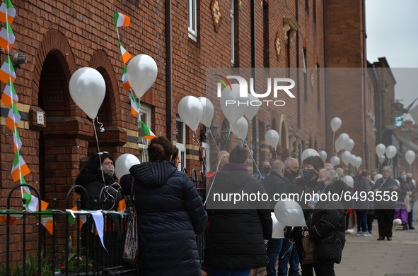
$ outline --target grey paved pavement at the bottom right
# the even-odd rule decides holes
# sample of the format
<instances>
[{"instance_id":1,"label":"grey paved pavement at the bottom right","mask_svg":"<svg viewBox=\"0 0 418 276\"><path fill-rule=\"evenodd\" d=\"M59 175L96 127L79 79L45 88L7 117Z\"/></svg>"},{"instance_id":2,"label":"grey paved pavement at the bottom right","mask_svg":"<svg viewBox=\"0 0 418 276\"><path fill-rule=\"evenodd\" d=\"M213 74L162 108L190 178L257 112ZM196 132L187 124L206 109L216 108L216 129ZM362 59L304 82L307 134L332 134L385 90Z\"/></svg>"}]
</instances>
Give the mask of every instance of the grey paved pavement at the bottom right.
<instances>
[{"instance_id":1,"label":"grey paved pavement at the bottom right","mask_svg":"<svg viewBox=\"0 0 418 276\"><path fill-rule=\"evenodd\" d=\"M415 230L397 227L392 241L377 241L378 224L374 220L373 236L346 235L342 261L335 264L337 276L418 276L418 208L414 208Z\"/></svg>"}]
</instances>

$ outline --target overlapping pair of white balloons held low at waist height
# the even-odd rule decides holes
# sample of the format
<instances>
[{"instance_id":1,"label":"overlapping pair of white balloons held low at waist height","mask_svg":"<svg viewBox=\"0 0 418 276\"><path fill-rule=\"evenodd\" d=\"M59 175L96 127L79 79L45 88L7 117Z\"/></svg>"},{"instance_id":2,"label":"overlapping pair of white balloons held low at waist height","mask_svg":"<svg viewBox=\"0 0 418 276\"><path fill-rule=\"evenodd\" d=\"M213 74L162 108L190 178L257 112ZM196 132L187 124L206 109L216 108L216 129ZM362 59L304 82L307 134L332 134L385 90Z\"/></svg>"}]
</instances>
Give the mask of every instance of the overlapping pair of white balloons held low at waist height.
<instances>
[{"instance_id":1,"label":"overlapping pair of white balloons held low at waist height","mask_svg":"<svg viewBox=\"0 0 418 276\"><path fill-rule=\"evenodd\" d=\"M272 212L273 239L284 239L284 227L303 227L306 225L301 205L294 200L279 200Z\"/></svg>"}]
</instances>

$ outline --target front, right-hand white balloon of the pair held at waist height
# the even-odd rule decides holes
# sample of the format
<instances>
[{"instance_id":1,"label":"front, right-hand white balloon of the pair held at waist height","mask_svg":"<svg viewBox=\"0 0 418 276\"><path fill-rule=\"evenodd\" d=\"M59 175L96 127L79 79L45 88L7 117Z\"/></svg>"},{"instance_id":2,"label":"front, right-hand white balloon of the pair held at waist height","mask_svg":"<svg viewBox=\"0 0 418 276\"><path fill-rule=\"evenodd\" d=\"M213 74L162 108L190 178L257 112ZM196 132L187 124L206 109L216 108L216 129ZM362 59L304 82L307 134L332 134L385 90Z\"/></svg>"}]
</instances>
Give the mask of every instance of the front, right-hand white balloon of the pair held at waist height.
<instances>
[{"instance_id":1,"label":"front, right-hand white balloon of the pair held at waist height","mask_svg":"<svg viewBox=\"0 0 418 276\"><path fill-rule=\"evenodd\" d=\"M279 222L287 226L303 227L306 225L301 205L291 199L279 200L274 206L274 215Z\"/></svg>"}]
</instances>

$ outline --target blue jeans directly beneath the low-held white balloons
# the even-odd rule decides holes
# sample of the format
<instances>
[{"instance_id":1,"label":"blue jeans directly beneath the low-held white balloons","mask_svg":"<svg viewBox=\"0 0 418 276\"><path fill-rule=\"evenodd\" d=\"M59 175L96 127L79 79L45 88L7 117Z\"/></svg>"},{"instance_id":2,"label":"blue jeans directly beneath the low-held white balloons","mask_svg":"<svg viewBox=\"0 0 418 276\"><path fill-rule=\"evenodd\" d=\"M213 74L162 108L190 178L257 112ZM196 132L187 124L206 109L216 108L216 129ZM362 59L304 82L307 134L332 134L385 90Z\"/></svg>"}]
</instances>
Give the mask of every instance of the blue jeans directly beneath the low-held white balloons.
<instances>
[{"instance_id":1,"label":"blue jeans directly beneath the low-held white balloons","mask_svg":"<svg viewBox=\"0 0 418 276\"><path fill-rule=\"evenodd\" d=\"M279 255L279 268L277 269L277 275L287 275L287 263L290 265L289 276L299 275L299 256L298 251L296 251L296 246L288 239L284 239Z\"/></svg>"}]
</instances>

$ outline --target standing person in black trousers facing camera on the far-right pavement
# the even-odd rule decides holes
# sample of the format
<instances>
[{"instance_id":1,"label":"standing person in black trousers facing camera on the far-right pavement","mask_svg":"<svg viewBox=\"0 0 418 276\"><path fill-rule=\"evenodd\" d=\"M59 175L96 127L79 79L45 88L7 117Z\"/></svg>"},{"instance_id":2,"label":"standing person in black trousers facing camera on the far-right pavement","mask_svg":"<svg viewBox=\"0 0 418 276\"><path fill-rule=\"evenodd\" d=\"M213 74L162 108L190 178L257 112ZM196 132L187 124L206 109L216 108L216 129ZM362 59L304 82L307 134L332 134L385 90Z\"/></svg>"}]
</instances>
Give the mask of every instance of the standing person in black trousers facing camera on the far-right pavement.
<instances>
[{"instance_id":1,"label":"standing person in black trousers facing camera on the far-right pavement","mask_svg":"<svg viewBox=\"0 0 418 276\"><path fill-rule=\"evenodd\" d=\"M383 241L385 237L392 241L393 217L395 215L396 200L393 200L393 191L398 190L395 179L390 176L390 167L382 169L382 177L376 181L373 187L375 197L375 212L378 219L379 237L378 241ZM389 200L376 200L378 194L383 197L384 192L390 193Z\"/></svg>"}]
</instances>

